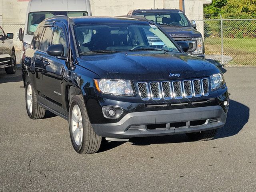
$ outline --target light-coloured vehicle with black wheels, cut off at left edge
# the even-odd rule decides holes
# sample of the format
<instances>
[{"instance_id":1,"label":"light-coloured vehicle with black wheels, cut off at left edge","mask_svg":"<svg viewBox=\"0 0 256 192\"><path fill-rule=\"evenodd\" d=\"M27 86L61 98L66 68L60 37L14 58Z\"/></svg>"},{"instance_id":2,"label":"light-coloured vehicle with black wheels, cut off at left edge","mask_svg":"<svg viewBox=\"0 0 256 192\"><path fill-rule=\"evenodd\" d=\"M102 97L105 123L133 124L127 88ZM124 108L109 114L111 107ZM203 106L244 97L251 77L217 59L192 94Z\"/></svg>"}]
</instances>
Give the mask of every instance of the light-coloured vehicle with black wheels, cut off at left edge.
<instances>
[{"instance_id":1,"label":"light-coloured vehicle with black wheels, cut off at left edge","mask_svg":"<svg viewBox=\"0 0 256 192\"><path fill-rule=\"evenodd\" d=\"M13 45L13 33L4 33L0 26L0 69L5 69L7 74L16 72L16 56Z\"/></svg>"}]
</instances>

